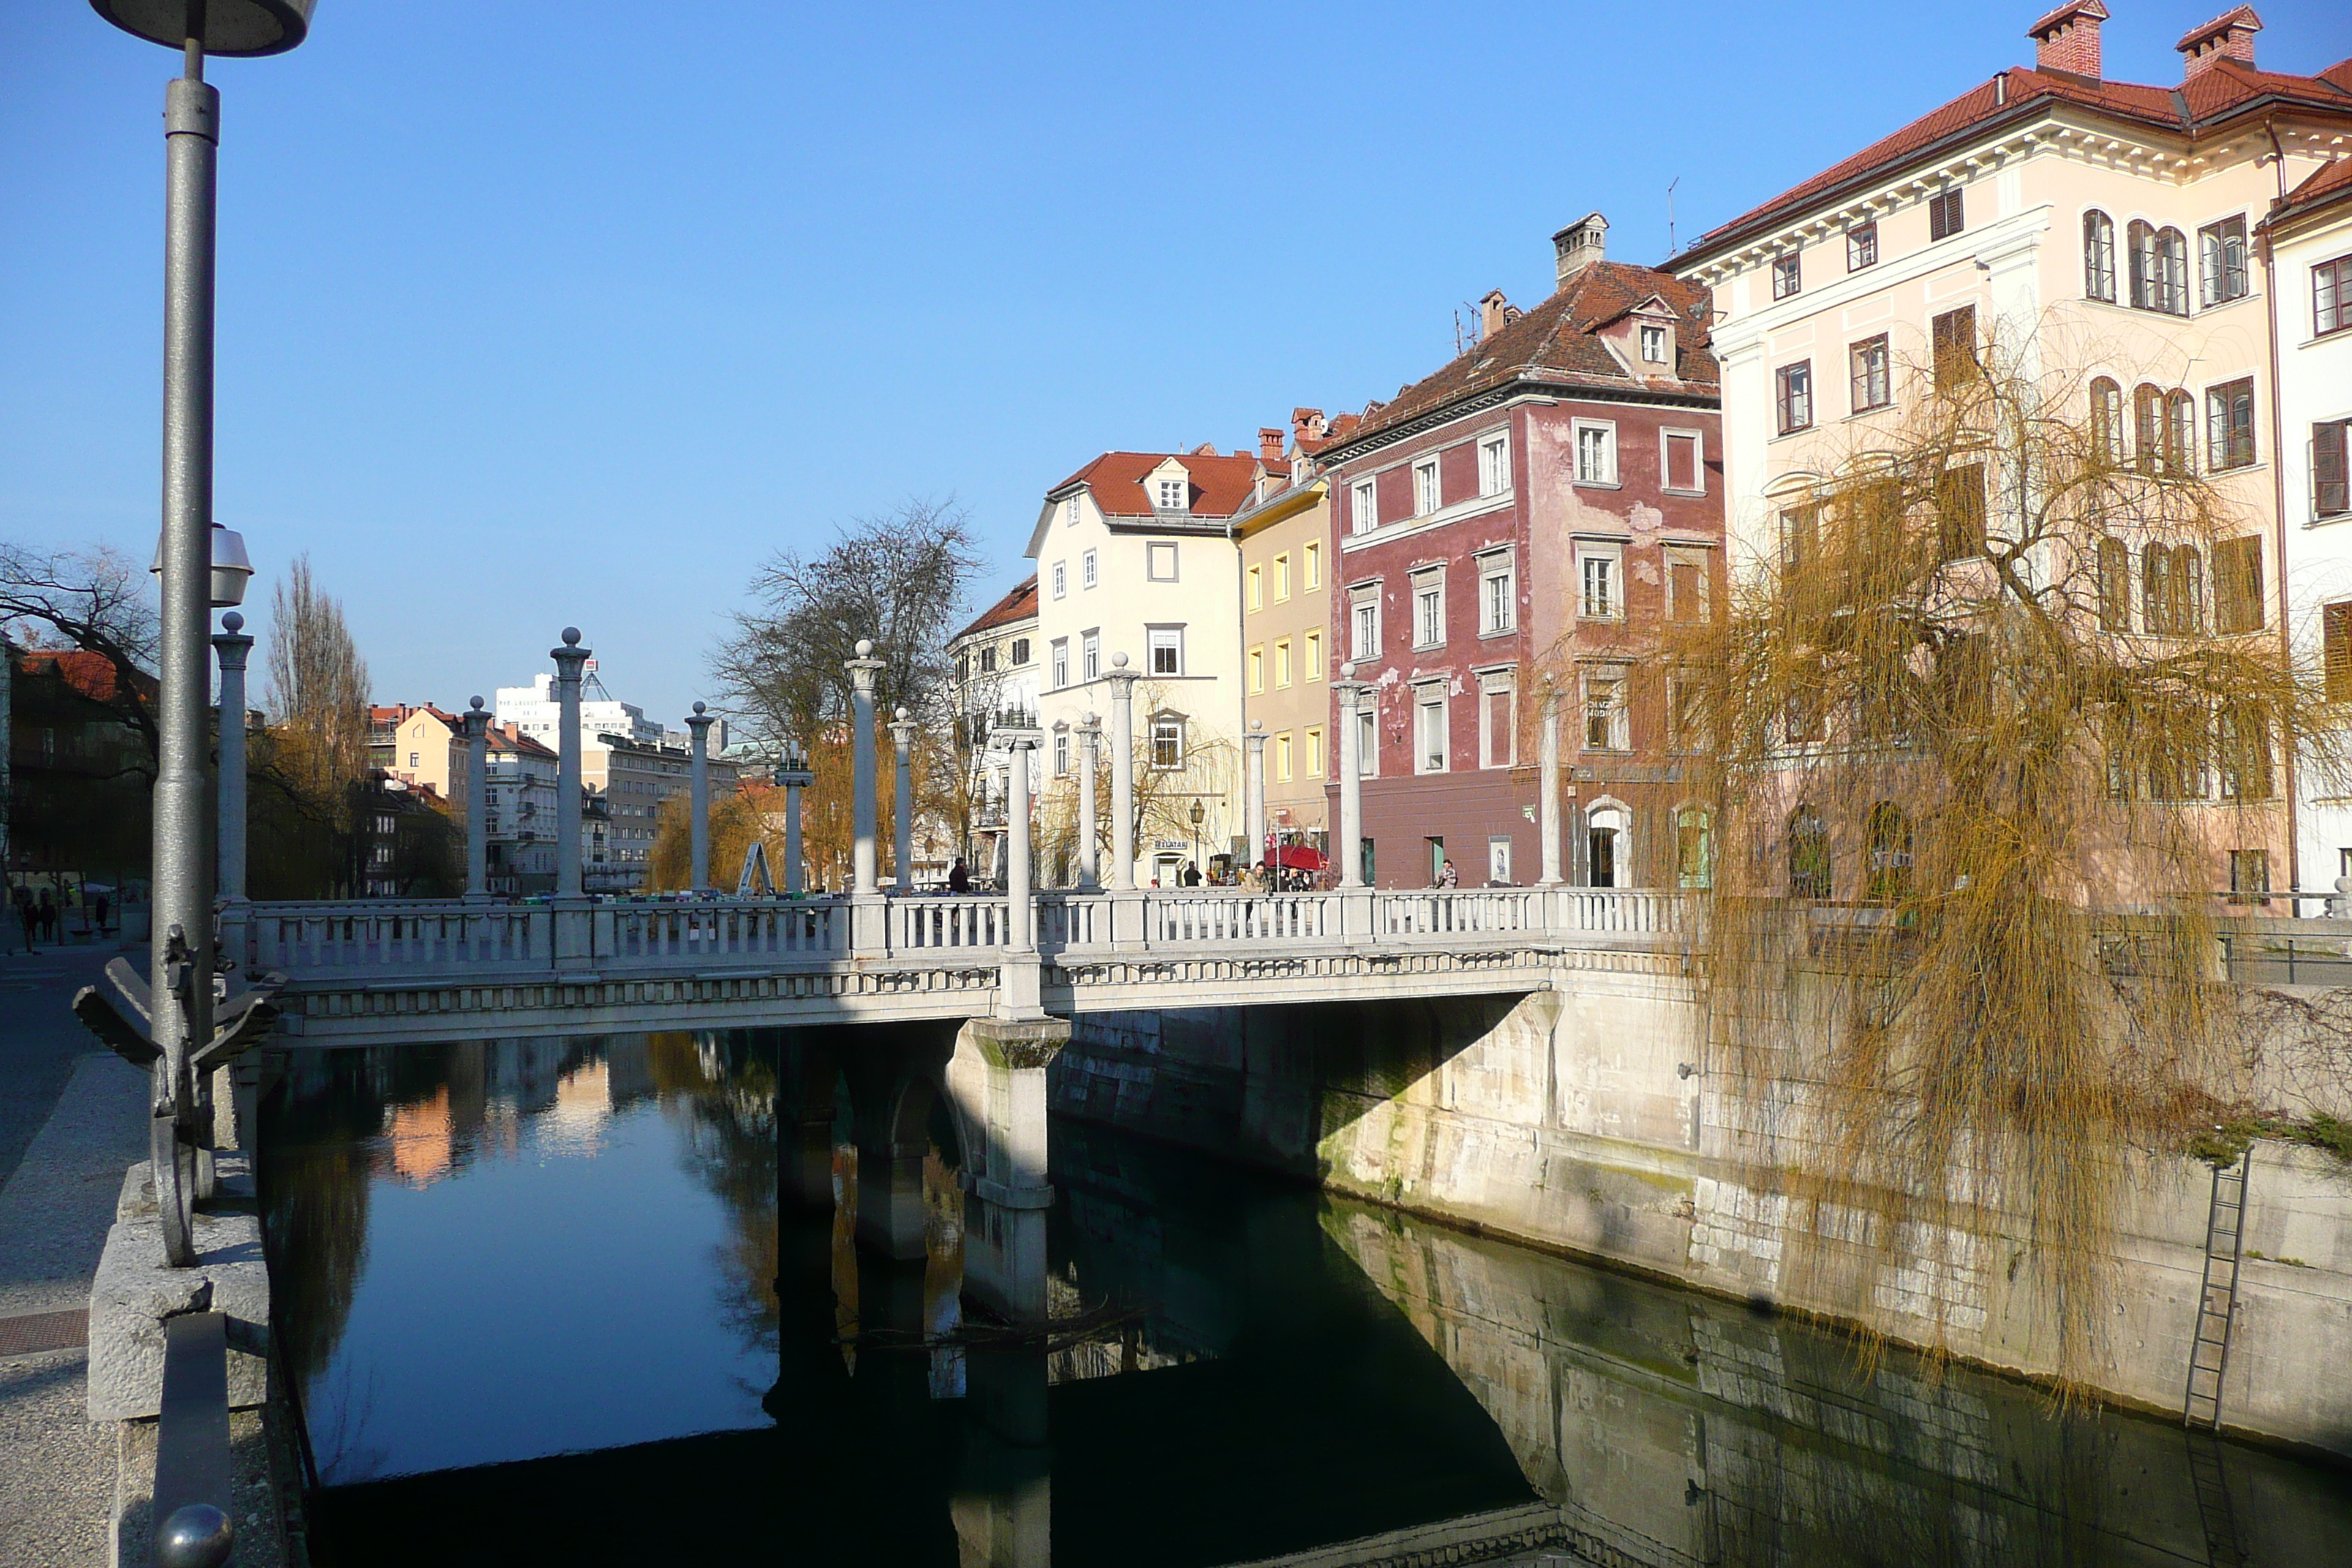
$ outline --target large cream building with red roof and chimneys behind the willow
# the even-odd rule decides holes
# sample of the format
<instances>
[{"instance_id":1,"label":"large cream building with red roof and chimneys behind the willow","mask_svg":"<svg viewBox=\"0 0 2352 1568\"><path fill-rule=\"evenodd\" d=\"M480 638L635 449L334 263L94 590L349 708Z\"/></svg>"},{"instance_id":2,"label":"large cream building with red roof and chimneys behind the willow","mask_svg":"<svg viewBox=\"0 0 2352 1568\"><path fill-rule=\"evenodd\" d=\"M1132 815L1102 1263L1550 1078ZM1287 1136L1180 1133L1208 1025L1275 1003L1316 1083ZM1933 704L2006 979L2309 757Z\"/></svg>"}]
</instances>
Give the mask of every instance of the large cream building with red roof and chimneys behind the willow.
<instances>
[{"instance_id":1,"label":"large cream building with red roof and chimneys behind the willow","mask_svg":"<svg viewBox=\"0 0 2352 1568\"><path fill-rule=\"evenodd\" d=\"M2284 635L2298 548L2281 529L2270 350L2284 301L2253 237L2279 190L2352 150L2352 61L2258 71L2260 21L2239 7L2180 40L2183 82L2110 82L2105 19L2098 0L2049 12L2030 31L2034 68L2002 71L1672 261L1715 294L1733 571L1773 559L1792 510L1931 395L1938 367L1992 353L2072 388L2082 418L2110 421L2133 456L2161 449L2213 475L2244 536L2225 541L2230 583L2197 562L2190 602L2237 602L2225 632ZM2140 616L2143 562L2129 574ZM2230 867L2284 889L2298 875L2284 813L2265 820L2274 830L2237 830L2249 842Z\"/></svg>"}]
</instances>

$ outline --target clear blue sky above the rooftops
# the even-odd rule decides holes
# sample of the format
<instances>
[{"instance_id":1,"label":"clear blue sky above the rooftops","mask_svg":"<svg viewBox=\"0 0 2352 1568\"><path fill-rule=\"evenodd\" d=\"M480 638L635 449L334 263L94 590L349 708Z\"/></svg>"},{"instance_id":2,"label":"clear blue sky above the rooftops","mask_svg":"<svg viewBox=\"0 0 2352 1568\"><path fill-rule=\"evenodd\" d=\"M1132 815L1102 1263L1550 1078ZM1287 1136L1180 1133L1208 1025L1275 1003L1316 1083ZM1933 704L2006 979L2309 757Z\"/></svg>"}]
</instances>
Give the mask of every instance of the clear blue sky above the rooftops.
<instances>
[{"instance_id":1,"label":"clear blue sky above the rooftops","mask_svg":"<svg viewBox=\"0 0 2352 1568\"><path fill-rule=\"evenodd\" d=\"M2220 0L2110 0L2176 82ZM2265 0L2260 61L2352 54ZM216 512L379 701L588 632L675 722L776 548L1388 397L1550 233L1668 249L2009 63L2034 5L322 0L223 92ZM155 538L165 49L0 7L0 538ZM266 621L266 611L256 616ZM266 625L259 628L266 635Z\"/></svg>"}]
</instances>

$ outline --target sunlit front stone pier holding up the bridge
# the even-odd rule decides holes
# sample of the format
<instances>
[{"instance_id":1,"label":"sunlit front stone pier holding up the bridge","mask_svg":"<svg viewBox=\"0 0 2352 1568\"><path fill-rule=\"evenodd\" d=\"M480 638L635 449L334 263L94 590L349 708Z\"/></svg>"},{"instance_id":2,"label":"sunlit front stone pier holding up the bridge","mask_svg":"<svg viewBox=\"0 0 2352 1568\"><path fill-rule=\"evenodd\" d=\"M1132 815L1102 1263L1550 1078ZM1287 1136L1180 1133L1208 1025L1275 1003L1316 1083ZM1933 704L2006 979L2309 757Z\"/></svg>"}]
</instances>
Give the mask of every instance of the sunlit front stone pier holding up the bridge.
<instances>
[{"instance_id":1,"label":"sunlit front stone pier holding up the bridge","mask_svg":"<svg viewBox=\"0 0 2352 1568\"><path fill-rule=\"evenodd\" d=\"M948 1098L967 1128L964 1293L990 1312L1037 1324L1044 1302L1047 1067L1070 1044L1061 1018L974 1018L948 1058Z\"/></svg>"}]
</instances>

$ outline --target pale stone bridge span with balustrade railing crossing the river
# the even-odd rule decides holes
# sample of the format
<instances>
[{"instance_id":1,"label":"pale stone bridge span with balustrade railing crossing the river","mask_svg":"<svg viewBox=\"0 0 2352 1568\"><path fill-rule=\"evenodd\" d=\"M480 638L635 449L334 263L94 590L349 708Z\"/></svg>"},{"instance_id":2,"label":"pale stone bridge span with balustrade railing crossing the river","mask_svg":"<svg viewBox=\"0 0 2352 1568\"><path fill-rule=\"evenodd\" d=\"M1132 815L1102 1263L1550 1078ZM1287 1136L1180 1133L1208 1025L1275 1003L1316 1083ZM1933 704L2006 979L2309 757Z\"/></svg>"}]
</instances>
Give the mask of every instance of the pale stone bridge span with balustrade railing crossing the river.
<instances>
[{"instance_id":1,"label":"pale stone bridge span with balustrade railing crossing the river","mask_svg":"<svg viewBox=\"0 0 2352 1568\"><path fill-rule=\"evenodd\" d=\"M223 947L287 976L287 1044L341 1046L1531 992L1682 973L1689 910L1564 886L256 903Z\"/></svg>"}]
</instances>

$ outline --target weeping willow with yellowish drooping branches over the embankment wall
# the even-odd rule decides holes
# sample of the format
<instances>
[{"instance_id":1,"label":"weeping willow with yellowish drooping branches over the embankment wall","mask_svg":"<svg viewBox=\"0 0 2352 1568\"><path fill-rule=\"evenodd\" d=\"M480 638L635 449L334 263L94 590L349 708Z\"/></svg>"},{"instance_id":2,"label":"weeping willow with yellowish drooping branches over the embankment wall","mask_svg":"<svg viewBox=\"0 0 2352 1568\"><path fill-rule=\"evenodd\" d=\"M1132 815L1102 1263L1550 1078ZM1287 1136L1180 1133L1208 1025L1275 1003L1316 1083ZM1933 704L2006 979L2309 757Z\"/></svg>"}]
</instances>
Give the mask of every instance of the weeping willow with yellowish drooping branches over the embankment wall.
<instances>
[{"instance_id":1,"label":"weeping willow with yellowish drooping branches over the embankment wall","mask_svg":"<svg viewBox=\"0 0 2352 1568\"><path fill-rule=\"evenodd\" d=\"M1999 346L1915 378L1679 649L1693 969L1809 1295L1943 1345L2006 1269L2074 1385L2150 1157L2256 1093L2216 919L2340 743L2185 395L2126 430Z\"/></svg>"}]
</instances>

